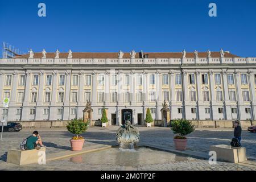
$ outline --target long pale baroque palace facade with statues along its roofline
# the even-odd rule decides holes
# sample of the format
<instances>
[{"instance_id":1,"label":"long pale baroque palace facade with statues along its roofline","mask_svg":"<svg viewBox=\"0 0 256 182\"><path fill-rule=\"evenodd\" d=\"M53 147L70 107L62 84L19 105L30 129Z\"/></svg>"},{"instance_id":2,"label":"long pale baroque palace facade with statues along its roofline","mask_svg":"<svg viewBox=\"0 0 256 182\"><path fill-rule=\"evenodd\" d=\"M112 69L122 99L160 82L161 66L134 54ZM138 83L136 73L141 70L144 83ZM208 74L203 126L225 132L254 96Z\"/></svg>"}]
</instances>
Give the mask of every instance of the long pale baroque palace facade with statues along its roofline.
<instances>
[{"instance_id":1,"label":"long pale baroque palace facade with statues along its roofline","mask_svg":"<svg viewBox=\"0 0 256 182\"><path fill-rule=\"evenodd\" d=\"M0 60L8 121L254 120L256 58L220 52L47 53Z\"/></svg>"}]
</instances>

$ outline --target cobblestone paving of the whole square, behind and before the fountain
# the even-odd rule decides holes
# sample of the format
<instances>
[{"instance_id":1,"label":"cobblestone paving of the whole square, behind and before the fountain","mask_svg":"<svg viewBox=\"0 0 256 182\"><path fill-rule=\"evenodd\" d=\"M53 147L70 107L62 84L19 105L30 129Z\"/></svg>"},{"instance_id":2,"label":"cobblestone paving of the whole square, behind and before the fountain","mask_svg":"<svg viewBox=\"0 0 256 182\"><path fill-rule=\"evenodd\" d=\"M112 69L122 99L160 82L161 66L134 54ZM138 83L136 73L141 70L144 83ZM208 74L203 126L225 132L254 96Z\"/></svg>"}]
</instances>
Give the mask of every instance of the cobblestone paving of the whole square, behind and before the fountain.
<instances>
[{"instance_id":1,"label":"cobblestone paving of the whole square, behind and before the fountain","mask_svg":"<svg viewBox=\"0 0 256 182\"><path fill-rule=\"evenodd\" d=\"M115 131L117 126L111 126L108 128L102 127L90 127L86 133L82 134L85 137L85 144L90 145L92 143L99 144L111 144L115 145ZM70 150L69 139L72 134L65 131L65 129L36 129L39 131L44 144L47 146L47 153L60 152ZM168 164L152 164L139 167L123 167L112 166L109 164L89 165L89 164L75 164L65 160L55 160L47 163L45 166L39 166L38 164L31 164L26 167L18 167L13 164L7 164L6 152L9 148L16 148L23 138L28 137L34 131L34 129L24 129L15 133L3 133L3 141L0 142L0 170L3 169L18 169L18 170L34 170L34 169L75 169L75 170L250 170L252 168L246 166L240 166L231 163L218 162L217 165L209 165L207 160L193 159L184 162L174 162ZM163 127L139 127L141 134L140 145L146 144L158 144L163 146L174 147L172 138L174 134L170 128ZM214 144L229 144L230 139L233 138L232 129L197 129L192 134L188 135L188 149L193 151L208 152L209 146ZM87 142L87 143L86 143ZM256 158L256 134L249 133L247 131L242 132L242 146L246 147L247 156L250 158ZM255 169L254 169L255 170Z\"/></svg>"}]
</instances>

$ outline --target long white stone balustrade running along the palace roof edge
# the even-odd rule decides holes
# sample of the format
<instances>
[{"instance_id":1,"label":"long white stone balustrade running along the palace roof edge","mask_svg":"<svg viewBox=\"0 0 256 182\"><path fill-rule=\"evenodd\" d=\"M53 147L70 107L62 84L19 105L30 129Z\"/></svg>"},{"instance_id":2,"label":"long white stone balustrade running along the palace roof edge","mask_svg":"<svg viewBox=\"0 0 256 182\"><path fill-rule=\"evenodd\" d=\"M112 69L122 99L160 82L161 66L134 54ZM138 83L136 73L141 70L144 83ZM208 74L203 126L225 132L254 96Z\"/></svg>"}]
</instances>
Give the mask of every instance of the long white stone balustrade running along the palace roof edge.
<instances>
[{"instance_id":1,"label":"long white stone balustrade running along the palace roof edge","mask_svg":"<svg viewBox=\"0 0 256 182\"><path fill-rule=\"evenodd\" d=\"M256 64L256 57L144 59L0 59L0 64Z\"/></svg>"}]
</instances>

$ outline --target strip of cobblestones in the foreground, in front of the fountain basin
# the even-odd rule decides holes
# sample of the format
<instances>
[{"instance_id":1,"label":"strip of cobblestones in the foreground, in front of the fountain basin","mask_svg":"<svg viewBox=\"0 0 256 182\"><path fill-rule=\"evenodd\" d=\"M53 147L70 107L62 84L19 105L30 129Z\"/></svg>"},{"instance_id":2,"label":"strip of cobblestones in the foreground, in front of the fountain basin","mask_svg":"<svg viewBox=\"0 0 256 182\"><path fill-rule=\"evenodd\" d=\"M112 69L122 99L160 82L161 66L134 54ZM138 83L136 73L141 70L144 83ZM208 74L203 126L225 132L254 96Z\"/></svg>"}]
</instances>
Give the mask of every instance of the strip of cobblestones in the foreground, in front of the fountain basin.
<instances>
[{"instance_id":1,"label":"strip of cobblestones in the foreground, in front of the fountain basin","mask_svg":"<svg viewBox=\"0 0 256 182\"><path fill-rule=\"evenodd\" d=\"M46 165L30 164L28 166L16 166L14 164L6 163L4 166L0 165L0 170L29 170L29 171L255 171L256 168L251 168L247 166L241 166L240 164L217 162L217 164L210 165L208 160L200 160L190 158L187 161L163 163L163 164L147 164L144 166L131 167L131 166L118 166L113 164L80 164L73 163L69 160L54 160L48 162Z\"/></svg>"}]
</instances>

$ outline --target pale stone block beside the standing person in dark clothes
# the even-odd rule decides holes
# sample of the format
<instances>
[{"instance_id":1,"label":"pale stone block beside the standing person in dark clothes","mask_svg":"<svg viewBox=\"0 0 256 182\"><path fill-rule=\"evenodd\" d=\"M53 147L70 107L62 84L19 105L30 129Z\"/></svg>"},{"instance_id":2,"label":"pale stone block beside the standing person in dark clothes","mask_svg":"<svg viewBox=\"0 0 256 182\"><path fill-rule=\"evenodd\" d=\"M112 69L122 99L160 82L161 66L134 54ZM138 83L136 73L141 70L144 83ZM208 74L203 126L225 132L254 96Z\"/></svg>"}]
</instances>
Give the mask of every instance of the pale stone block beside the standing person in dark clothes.
<instances>
[{"instance_id":1,"label":"pale stone block beside the standing person in dark clothes","mask_svg":"<svg viewBox=\"0 0 256 182\"><path fill-rule=\"evenodd\" d=\"M226 144L210 146L210 151L215 151L217 160L230 163L240 163L247 160L245 147L232 147Z\"/></svg>"}]
</instances>

